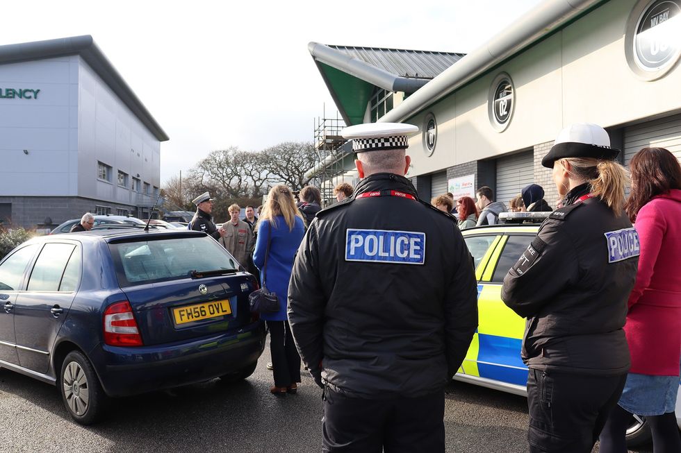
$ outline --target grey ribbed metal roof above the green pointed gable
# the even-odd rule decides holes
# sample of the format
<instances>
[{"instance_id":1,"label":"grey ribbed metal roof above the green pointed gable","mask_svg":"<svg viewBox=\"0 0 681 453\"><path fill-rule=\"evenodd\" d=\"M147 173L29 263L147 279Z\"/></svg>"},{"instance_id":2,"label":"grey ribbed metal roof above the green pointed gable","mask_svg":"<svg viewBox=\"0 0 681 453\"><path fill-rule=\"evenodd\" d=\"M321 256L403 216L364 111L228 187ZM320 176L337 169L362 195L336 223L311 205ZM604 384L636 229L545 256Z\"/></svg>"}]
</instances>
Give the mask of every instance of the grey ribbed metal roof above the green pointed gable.
<instances>
[{"instance_id":1,"label":"grey ribbed metal roof above the green pointed gable","mask_svg":"<svg viewBox=\"0 0 681 453\"><path fill-rule=\"evenodd\" d=\"M346 55L366 62L368 65L384 69L395 76L409 78L434 78L465 53L434 51L411 51L404 49L383 49L380 47L334 46L327 44Z\"/></svg>"}]
</instances>

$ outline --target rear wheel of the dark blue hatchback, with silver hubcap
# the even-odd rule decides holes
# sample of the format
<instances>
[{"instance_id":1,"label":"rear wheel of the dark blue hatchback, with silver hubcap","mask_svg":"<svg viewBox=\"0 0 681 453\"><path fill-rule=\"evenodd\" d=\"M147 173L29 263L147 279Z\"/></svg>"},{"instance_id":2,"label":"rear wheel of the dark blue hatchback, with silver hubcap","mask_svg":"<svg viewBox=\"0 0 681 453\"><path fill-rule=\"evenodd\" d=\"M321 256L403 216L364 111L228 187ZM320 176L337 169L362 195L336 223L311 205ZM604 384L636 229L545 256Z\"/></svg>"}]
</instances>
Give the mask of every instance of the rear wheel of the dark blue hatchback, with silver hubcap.
<instances>
[{"instance_id":1,"label":"rear wheel of the dark blue hatchback, with silver hubcap","mask_svg":"<svg viewBox=\"0 0 681 453\"><path fill-rule=\"evenodd\" d=\"M79 351L67 354L59 375L64 405L76 422L90 425L101 416L106 395L90 361Z\"/></svg>"}]
</instances>

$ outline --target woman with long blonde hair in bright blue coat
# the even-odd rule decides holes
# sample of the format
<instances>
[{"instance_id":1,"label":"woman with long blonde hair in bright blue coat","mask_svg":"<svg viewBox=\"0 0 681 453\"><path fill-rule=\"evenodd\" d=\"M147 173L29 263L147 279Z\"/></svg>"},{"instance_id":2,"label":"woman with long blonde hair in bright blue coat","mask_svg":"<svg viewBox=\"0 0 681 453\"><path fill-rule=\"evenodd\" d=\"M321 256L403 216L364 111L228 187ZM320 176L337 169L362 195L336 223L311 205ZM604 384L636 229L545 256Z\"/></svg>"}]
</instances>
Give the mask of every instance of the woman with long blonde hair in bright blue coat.
<instances>
[{"instance_id":1,"label":"woman with long blonde hair in bright blue coat","mask_svg":"<svg viewBox=\"0 0 681 453\"><path fill-rule=\"evenodd\" d=\"M288 325L286 302L293 258L305 234L305 226L288 187L272 187L259 217L257 231L253 262L260 270L263 286L277 294L280 302L276 313L261 314L270 330L270 355L274 374L274 386L270 388L270 392L274 395L295 393L297 382L300 382L300 356Z\"/></svg>"}]
</instances>

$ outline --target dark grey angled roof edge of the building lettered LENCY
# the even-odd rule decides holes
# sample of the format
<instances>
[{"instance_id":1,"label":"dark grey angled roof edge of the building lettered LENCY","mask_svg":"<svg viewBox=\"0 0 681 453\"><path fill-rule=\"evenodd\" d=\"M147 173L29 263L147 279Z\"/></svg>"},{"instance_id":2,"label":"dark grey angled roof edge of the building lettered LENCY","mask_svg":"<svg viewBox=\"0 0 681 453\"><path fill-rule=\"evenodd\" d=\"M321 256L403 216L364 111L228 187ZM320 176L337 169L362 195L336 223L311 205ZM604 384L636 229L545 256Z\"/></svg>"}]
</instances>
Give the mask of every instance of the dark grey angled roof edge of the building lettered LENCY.
<instances>
[{"instance_id":1,"label":"dark grey angled roof edge of the building lettered LENCY","mask_svg":"<svg viewBox=\"0 0 681 453\"><path fill-rule=\"evenodd\" d=\"M116 68L101 53L92 36L63 37L57 40L24 42L21 44L6 44L0 46L0 65L30 60L42 60L65 55L80 55L85 62L95 70L121 101L135 114L149 132L159 142L169 139L161 126L158 125L151 113L142 104L133 90L125 83Z\"/></svg>"}]
</instances>

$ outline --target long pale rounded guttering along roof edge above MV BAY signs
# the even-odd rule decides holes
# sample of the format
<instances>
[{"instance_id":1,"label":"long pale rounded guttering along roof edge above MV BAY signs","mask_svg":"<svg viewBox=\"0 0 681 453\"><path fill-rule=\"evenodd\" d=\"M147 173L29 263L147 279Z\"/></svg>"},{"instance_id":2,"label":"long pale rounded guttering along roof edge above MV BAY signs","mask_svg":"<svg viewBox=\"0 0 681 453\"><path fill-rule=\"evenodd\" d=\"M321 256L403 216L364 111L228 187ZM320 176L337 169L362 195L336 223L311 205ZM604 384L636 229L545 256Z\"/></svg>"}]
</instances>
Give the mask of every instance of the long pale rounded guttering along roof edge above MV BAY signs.
<instances>
[{"instance_id":1,"label":"long pale rounded guttering along roof edge above MV BAY signs","mask_svg":"<svg viewBox=\"0 0 681 453\"><path fill-rule=\"evenodd\" d=\"M430 80L379 122L400 123L443 99L491 67L609 0L547 0Z\"/></svg>"}]
</instances>

